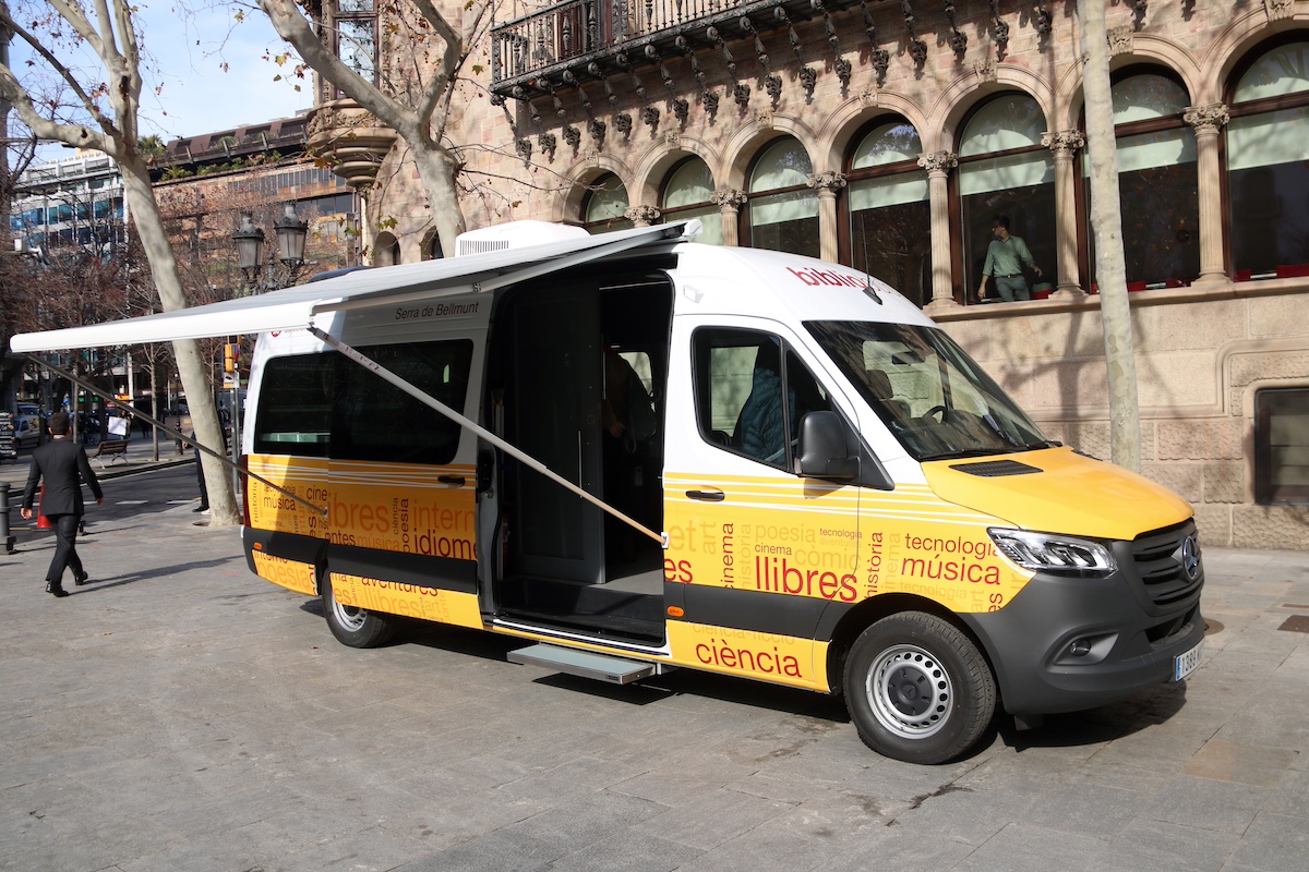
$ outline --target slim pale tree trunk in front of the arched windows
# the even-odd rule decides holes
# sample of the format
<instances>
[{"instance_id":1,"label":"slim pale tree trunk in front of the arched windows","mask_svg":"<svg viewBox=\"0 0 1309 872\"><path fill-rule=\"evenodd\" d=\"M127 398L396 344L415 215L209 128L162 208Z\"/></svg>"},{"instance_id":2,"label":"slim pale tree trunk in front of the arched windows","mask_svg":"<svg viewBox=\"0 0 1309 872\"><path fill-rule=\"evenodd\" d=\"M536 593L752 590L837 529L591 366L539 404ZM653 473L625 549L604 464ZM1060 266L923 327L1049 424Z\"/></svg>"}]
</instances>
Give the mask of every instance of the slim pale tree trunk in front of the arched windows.
<instances>
[{"instance_id":1,"label":"slim pale tree trunk in front of the arched windows","mask_svg":"<svg viewBox=\"0 0 1309 872\"><path fill-rule=\"evenodd\" d=\"M1086 152L1090 161L1090 229L1096 237L1096 282L1109 367L1109 435L1113 460L1132 472L1141 468L1141 425L1136 400L1136 353L1127 299L1123 216L1118 197L1118 144L1109 84L1109 34L1103 0L1077 0L1083 89L1086 98Z\"/></svg>"}]
</instances>

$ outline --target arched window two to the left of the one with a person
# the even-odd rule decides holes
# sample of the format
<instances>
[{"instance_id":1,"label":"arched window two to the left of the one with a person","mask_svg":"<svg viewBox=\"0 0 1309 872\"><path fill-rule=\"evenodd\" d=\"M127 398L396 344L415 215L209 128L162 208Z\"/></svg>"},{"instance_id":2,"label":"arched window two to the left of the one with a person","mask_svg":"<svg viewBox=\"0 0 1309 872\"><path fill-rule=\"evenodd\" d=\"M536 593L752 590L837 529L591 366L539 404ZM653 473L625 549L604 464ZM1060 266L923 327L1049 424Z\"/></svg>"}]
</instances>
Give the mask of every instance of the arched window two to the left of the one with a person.
<instances>
[{"instance_id":1,"label":"arched window two to the left of the one with a person","mask_svg":"<svg viewBox=\"0 0 1309 872\"><path fill-rule=\"evenodd\" d=\"M809 154L791 136L759 154L746 193L747 244L818 256L818 195L808 184L812 173Z\"/></svg>"}]
</instances>

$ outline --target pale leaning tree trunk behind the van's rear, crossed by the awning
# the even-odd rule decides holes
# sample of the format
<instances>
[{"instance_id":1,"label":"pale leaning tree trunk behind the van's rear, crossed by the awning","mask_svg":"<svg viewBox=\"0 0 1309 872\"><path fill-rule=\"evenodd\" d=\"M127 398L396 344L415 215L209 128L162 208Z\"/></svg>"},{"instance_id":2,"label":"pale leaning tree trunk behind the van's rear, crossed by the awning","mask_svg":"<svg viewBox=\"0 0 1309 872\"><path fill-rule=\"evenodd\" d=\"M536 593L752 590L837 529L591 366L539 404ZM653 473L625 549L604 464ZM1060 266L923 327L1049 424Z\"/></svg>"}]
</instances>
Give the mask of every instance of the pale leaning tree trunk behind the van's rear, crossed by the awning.
<instances>
[{"instance_id":1,"label":"pale leaning tree trunk behind the van's rear, crossed by the awning","mask_svg":"<svg viewBox=\"0 0 1309 872\"><path fill-rule=\"evenodd\" d=\"M123 188L127 193L132 222L136 225L141 247L145 250L145 259L151 264L151 277L154 280L160 302L164 303L164 311L186 309L186 297L178 278L173 247L168 242L164 218L160 214L158 203L154 200L154 191L151 188L149 170L135 154L131 158L119 159L118 166L123 174ZM173 354L177 358L177 371L182 378L182 387L186 390L186 403L191 408L191 426L195 428L195 437L202 444L221 455L224 454L223 428L219 425L219 412L213 403L213 388L204 373L200 344L194 339L178 340L173 343ZM236 495L232 492L232 481L223 464L206 454L200 455L200 463L204 467L204 486L209 493L209 523L215 527L232 527L241 523Z\"/></svg>"}]
</instances>

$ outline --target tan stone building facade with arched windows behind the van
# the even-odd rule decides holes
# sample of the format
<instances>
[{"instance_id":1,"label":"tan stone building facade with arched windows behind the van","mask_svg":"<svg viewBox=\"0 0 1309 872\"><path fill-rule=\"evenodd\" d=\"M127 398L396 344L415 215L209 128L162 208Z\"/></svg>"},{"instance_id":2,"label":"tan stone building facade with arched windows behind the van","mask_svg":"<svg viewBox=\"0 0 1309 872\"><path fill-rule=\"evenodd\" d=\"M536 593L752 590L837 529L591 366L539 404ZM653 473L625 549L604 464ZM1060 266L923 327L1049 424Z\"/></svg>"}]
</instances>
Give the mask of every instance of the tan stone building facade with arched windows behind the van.
<instances>
[{"instance_id":1,"label":"tan stone building facade with arched windows behind the van","mask_svg":"<svg viewBox=\"0 0 1309 872\"><path fill-rule=\"evenodd\" d=\"M347 5L357 27L370 4ZM1106 14L1144 473L1210 544L1306 548L1309 3ZM374 68L397 61L389 30ZM709 242L867 268L1050 437L1107 458L1080 41L1076 4L1047 0L503 3L456 97L465 214L694 216ZM353 146L338 171L368 191L374 260L433 256L403 148L376 124L335 136L347 116L319 84L310 139ZM988 297L996 214L1042 268L1029 302Z\"/></svg>"}]
</instances>

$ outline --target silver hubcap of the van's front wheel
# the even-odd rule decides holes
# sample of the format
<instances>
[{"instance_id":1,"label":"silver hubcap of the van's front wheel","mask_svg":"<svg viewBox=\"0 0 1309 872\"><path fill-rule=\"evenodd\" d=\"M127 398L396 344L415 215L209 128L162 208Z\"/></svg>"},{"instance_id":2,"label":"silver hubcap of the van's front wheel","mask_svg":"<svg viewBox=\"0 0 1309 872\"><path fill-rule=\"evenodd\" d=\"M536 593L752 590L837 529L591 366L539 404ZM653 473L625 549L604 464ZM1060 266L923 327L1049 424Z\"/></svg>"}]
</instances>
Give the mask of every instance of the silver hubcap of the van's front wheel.
<instances>
[{"instance_id":1,"label":"silver hubcap of the van's front wheel","mask_svg":"<svg viewBox=\"0 0 1309 872\"><path fill-rule=\"evenodd\" d=\"M877 658L868 672L868 702L877 720L897 736L925 739L950 718L950 676L929 651L898 645Z\"/></svg>"}]
</instances>

